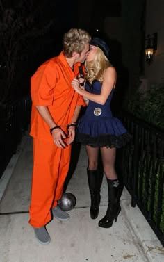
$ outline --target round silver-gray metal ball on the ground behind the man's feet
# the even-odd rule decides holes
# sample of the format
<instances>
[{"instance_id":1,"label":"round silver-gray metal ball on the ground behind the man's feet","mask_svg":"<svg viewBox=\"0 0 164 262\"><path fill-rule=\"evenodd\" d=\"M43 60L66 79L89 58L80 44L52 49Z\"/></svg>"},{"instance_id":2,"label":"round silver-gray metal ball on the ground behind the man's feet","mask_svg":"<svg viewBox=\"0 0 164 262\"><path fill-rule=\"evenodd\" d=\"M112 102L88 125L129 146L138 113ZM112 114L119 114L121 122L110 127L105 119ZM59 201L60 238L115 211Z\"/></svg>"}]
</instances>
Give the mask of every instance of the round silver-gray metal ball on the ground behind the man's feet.
<instances>
[{"instance_id":1,"label":"round silver-gray metal ball on the ground behind the man's feet","mask_svg":"<svg viewBox=\"0 0 164 262\"><path fill-rule=\"evenodd\" d=\"M76 197L72 193L63 193L58 205L63 211L69 211L76 205Z\"/></svg>"}]
</instances>

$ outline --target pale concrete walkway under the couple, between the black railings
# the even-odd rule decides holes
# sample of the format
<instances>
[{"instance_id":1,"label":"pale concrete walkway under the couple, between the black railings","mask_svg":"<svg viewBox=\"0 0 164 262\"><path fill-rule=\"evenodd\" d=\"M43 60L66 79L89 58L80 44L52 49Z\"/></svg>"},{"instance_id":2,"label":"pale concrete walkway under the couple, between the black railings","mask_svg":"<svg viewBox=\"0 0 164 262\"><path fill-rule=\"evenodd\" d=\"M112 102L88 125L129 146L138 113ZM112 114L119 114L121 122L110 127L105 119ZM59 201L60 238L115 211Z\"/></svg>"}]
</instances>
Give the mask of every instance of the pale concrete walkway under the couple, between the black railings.
<instances>
[{"instance_id":1,"label":"pale concrete walkway under the couple, between the black railings","mask_svg":"<svg viewBox=\"0 0 164 262\"><path fill-rule=\"evenodd\" d=\"M131 197L126 189L117 223L110 229L102 229L98 222L108 204L104 178L99 218L90 219L84 147L81 147L78 165L67 187L67 192L76 196L76 208L69 211L68 222L52 220L47 225L51 243L40 245L28 224L32 153L31 138L27 135L0 181L0 213L3 214L0 215L0 262L164 261L161 243L138 207L131 208Z\"/></svg>"}]
</instances>

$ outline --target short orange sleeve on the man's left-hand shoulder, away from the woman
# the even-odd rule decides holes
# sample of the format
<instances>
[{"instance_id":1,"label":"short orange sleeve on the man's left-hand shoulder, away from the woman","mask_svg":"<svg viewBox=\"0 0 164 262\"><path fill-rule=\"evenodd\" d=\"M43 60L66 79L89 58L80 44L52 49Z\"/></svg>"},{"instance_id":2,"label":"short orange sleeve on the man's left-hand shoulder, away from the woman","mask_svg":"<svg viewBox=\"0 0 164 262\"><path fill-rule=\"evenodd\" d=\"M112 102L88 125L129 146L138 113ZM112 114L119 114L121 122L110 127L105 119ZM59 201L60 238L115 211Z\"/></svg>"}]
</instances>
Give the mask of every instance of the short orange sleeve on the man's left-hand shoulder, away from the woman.
<instances>
[{"instance_id":1,"label":"short orange sleeve on the man's left-hand shoulder, away from the woman","mask_svg":"<svg viewBox=\"0 0 164 262\"><path fill-rule=\"evenodd\" d=\"M48 63L31 77L31 98L34 106L51 106L57 82L56 67Z\"/></svg>"}]
</instances>

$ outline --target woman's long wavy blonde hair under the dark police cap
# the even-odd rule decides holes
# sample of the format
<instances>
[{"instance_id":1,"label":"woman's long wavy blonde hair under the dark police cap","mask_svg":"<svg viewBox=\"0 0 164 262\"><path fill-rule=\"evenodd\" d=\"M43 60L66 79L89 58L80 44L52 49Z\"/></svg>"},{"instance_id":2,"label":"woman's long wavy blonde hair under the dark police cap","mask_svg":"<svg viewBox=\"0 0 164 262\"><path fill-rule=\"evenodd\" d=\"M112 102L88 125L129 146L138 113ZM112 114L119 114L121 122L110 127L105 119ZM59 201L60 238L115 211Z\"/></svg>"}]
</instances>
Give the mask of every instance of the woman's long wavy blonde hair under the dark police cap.
<instances>
[{"instance_id":1,"label":"woman's long wavy blonde hair under the dark police cap","mask_svg":"<svg viewBox=\"0 0 164 262\"><path fill-rule=\"evenodd\" d=\"M108 58L104 55L104 52L97 47L97 53L95 60L92 62L85 62L85 67L87 70L86 79L92 83L93 80L97 79L100 82L104 80L104 72L107 67L112 66Z\"/></svg>"}]
</instances>

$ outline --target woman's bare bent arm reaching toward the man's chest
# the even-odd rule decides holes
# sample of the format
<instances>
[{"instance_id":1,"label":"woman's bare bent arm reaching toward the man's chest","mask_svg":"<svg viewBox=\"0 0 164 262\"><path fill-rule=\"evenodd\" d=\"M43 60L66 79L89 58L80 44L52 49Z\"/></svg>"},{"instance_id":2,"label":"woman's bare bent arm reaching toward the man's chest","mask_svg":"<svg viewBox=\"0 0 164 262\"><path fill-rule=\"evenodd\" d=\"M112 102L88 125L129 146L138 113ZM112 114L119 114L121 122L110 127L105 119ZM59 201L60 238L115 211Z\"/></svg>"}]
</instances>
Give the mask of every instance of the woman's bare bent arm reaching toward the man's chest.
<instances>
[{"instance_id":1,"label":"woman's bare bent arm reaching toward the man's chest","mask_svg":"<svg viewBox=\"0 0 164 262\"><path fill-rule=\"evenodd\" d=\"M85 90L82 90L79 86L79 81L77 79L73 79L72 87L80 95L83 95L83 97L104 105L106 103L106 100L108 99L108 96L110 95L111 90L113 89L113 87L115 87L116 77L117 75L115 68L108 67L104 72L104 81L102 83L101 93L99 95L95 95Z\"/></svg>"}]
</instances>

